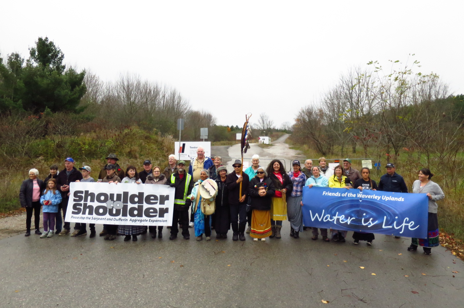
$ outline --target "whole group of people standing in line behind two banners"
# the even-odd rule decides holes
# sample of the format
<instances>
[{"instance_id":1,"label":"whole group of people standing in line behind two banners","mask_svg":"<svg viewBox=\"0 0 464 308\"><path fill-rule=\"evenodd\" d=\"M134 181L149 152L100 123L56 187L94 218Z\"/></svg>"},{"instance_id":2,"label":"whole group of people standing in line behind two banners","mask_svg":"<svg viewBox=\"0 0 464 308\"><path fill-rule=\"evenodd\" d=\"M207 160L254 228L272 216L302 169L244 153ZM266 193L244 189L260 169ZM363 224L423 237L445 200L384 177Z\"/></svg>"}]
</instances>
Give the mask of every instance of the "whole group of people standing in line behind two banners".
<instances>
[{"instance_id":1,"label":"whole group of people standing in line behind two banners","mask_svg":"<svg viewBox=\"0 0 464 308\"><path fill-rule=\"evenodd\" d=\"M282 221L289 220L290 236L295 239L299 238L303 230L311 229L313 240L318 239L320 232L325 242L345 242L347 231L331 229L329 239L327 229L303 225L303 186L408 192L403 177L395 172L392 163L387 163L387 173L380 177L377 184L370 178L369 168L362 168L360 172L352 168L349 158L344 159L342 164L333 170L329 168L324 157L318 159L317 166L313 166L312 160L306 160L303 168L298 160L294 160L292 169L287 172L280 160L274 159L264 168L259 164L259 156L253 155L251 166L245 171L241 160L236 160L232 164L233 172L230 174L226 166L222 165L221 157L206 157L201 147L197 149L197 156L190 161L188 171L186 162L177 161L174 154L169 155L168 166L162 171L159 166L153 167L150 160L143 162L143 170L140 172L137 172L133 165L128 166L125 171L122 170L115 154L108 155L106 160L107 164L100 170L97 181L91 177L92 170L89 166L83 166L79 171L74 167L75 162L71 157L64 159L64 169L61 171L58 171L57 165L52 165L50 174L43 181L38 178L37 169L29 170L29 179L23 181L19 192L21 206L26 207L25 236L31 234L32 213L35 233L41 238L71 233L70 223L63 219L66 216L71 182L115 182L174 187L174 211L172 224L168 226L169 239L176 239L179 229L184 239L190 239L189 228L193 227L197 241L202 240L203 235L206 241L211 240L213 229L216 239L226 239L231 228L234 241L244 241L245 233L249 233L254 241L265 241L268 237L280 239ZM438 184L431 181L433 174L429 169L421 169L418 173L419 179L413 183L412 193L424 193L429 198L428 234L425 239L413 238L408 250L415 251L418 246L422 246L424 253L430 255L431 248L438 246L436 201L443 199L445 195ZM200 209L202 197L199 193L200 184L208 178L214 180L218 187L216 195L211 198L215 201L214 213L209 215ZM39 227L42 206L43 233ZM95 224L89 224L89 227L90 237L95 237ZM123 235L124 240L136 241L138 235L147 232L152 234L152 238L162 238L162 231L163 226L105 224L100 236L114 240L116 235ZM76 223L71 236L86 234L86 224ZM372 245L374 234L354 232L353 240L354 244L366 241L367 245Z\"/></svg>"}]
</instances>

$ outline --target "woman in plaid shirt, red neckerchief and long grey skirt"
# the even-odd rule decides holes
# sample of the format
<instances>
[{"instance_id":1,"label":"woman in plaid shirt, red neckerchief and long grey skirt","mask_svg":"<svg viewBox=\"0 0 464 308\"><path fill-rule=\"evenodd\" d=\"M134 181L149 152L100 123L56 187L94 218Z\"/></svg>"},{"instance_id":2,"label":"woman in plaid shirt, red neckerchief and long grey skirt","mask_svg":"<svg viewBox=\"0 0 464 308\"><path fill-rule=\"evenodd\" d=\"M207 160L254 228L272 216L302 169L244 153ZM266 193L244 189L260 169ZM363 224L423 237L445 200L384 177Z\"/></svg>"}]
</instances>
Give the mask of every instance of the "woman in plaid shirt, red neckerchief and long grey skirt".
<instances>
[{"instance_id":1,"label":"woman in plaid shirt, red neckerchief and long grey skirt","mask_svg":"<svg viewBox=\"0 0 464 308\"><path fill-rule=\"evenodd\" d=\"M290 236L298 239L303 232L303 213L301 212L301 200L306 175L301 171L299 160L293 161L293 171L289 172L290 181L293 184L291 194L287 197L287 216L290 221Z\"/></svg>"}]
</instances>

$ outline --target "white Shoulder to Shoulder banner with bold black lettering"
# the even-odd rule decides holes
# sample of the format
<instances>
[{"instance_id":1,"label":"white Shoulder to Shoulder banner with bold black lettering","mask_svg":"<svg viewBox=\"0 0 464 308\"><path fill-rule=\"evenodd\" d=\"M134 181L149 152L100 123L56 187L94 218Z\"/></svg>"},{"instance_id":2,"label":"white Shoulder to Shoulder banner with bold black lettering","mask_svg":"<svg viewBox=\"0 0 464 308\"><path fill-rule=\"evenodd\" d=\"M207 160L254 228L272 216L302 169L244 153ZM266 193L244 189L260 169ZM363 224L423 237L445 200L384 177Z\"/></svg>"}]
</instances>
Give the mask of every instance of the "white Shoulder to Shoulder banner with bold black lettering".
<instances>
[{"instance_id":1,"label":"white Shoulder to Shoulder banner with bold black lettering","mask_svg":"<svg viewBox=\"0 0 464 308\"><path fill-rule=\"evenodd\" d=\"M174 191L168 185L71 182L66 221L170 226Z\"/></svg>"}]
</instances>

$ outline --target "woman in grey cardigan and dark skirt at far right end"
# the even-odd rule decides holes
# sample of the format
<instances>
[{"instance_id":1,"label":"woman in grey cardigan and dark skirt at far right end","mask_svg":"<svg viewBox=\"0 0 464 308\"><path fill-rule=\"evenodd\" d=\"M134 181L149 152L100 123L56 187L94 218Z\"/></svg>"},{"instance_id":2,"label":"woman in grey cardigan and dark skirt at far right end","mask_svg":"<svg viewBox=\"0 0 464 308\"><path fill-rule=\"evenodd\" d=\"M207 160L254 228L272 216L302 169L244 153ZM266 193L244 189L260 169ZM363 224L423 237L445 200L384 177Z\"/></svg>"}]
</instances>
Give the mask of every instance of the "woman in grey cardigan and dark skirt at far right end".
<instances>
[{"instance_id":1,"label":"woman in grey cardigan and dark skirt at far right end","mask_svg":"<svg viewBox=\"0 0 464 308\"><path fill-rule=\"evenodd\" d=\"M426 255L432 254L432 247L439 245L438 242L438 217L437 217L437 203L435 201L445 198L443 190L437 183L432 182L430 179L433 174L429 169L424 168L419 170L419 180L414 181L412 184L412 193L414 194L427 194L429 197L429 222L427 227L426 239L411 239L411 245L407 248L409 251L417 250L417 246L422 246Z\"/></svg>"}]
</instances>

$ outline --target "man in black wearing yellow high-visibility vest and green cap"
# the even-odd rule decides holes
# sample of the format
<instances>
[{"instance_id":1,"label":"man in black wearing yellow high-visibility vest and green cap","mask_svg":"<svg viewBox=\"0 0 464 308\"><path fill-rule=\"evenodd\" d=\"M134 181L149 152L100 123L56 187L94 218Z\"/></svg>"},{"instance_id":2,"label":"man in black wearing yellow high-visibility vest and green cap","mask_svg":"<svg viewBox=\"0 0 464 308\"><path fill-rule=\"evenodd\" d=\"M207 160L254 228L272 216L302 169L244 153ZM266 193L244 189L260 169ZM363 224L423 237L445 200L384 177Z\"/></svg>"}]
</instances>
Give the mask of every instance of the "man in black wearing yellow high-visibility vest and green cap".
<instances>
[{"instance_id":1,"label":"man in black wearing yellow high-visibility vest and green cap","mask_svg":"<svg viewBox=\"0 0 464 308\"><path fill-rule=\"evenodd\" d=\"M174 193L174 212L171 225L171 236L169 239L176 239L179 228L177 221L180 219L182 224L182 236L184 239L190 239L188 232L188 208L192 204L190 194L193 189L193 178L185 172L185 161L177 162L177 171L168 179L169 185L175 187Z\"/></svg>"}]
</instances>

